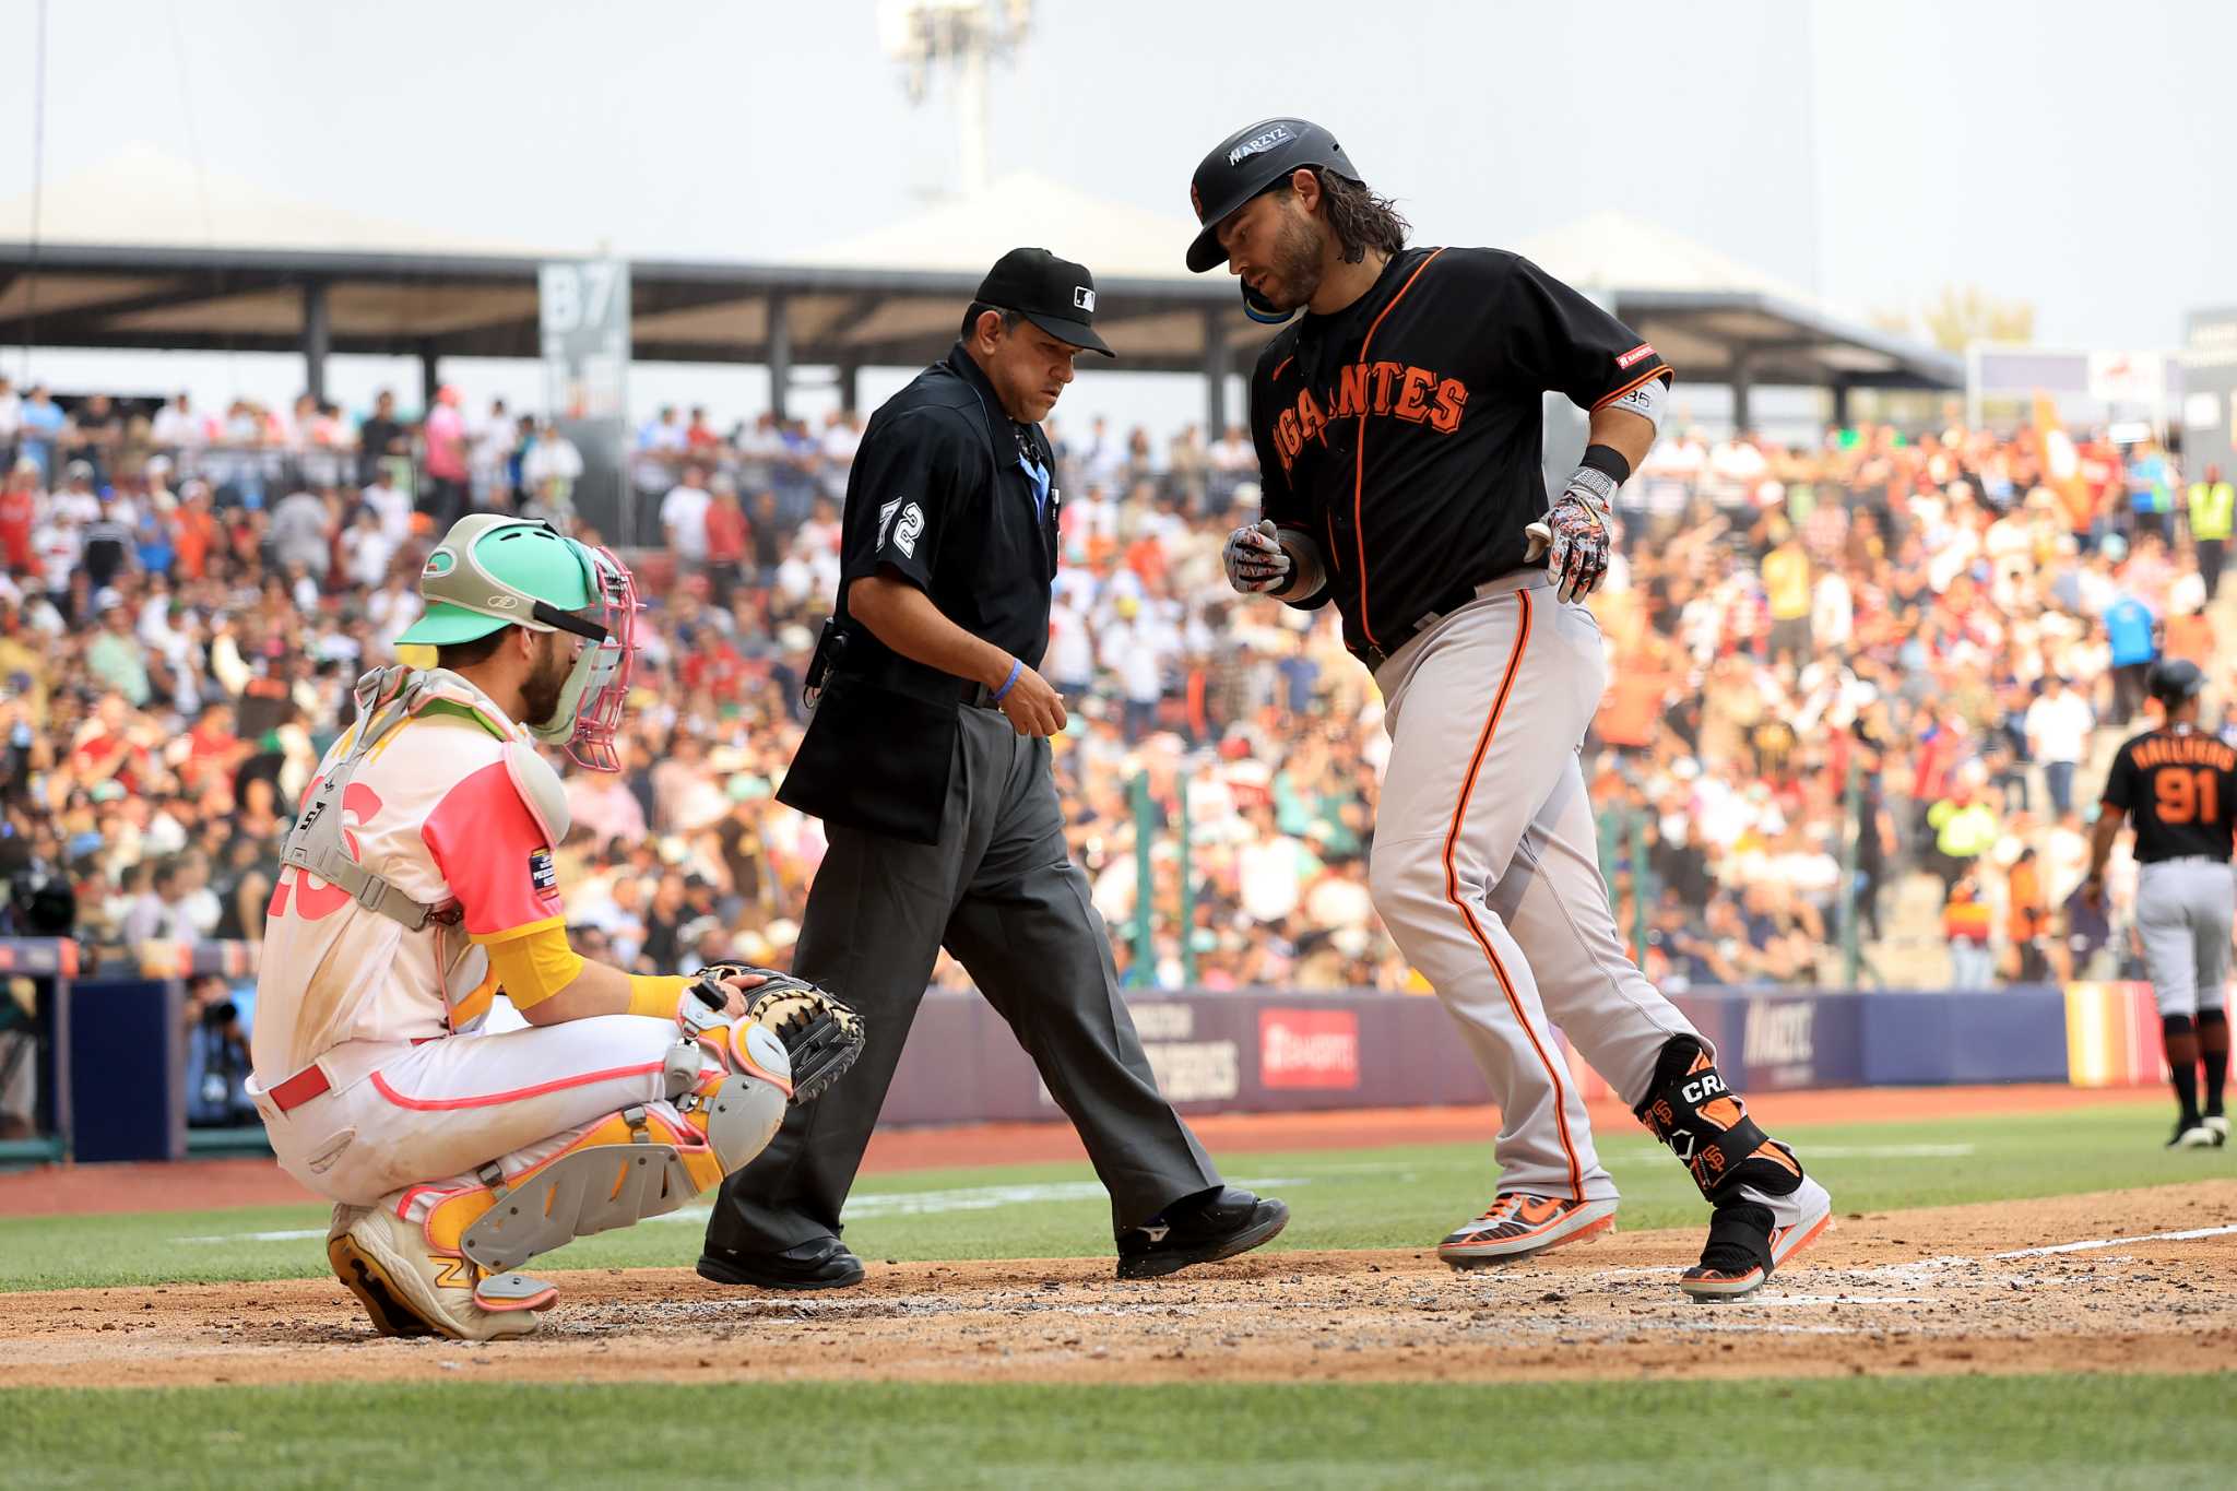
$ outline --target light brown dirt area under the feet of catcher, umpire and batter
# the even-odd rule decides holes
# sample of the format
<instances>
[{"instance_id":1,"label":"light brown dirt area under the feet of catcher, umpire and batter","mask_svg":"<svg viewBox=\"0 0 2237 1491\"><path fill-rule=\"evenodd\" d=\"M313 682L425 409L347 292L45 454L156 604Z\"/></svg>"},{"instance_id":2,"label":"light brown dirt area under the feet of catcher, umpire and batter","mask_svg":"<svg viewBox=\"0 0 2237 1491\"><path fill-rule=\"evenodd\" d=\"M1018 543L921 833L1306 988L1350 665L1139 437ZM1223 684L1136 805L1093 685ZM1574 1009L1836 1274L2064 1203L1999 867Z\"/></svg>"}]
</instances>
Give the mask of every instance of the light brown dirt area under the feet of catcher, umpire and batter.
<instances>
[{"instance_id":1,"label":"light brown dirt area under the feet of catcher, umpire and batter","mask_svg":"<svg viewBox=\"0 0 2237 1491\"><path fill-rule=\"evenodd\" d=\"M1154 1283L1107 1259L872 1263L837 1294L555 1272L544 1330L497 1346L378 1339L327 1279L58 1290L7 1297L0 1379L1490 1381L2156 1373L2237 1352L2237 1180L1839 1216L1725 1305L1673 1288L1698 1247L1617 1234L1470 1274L1427 1252L1271 1254Z\"/></svg>"}]
</instances>

